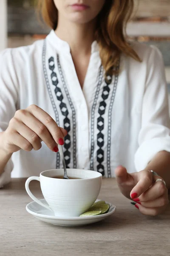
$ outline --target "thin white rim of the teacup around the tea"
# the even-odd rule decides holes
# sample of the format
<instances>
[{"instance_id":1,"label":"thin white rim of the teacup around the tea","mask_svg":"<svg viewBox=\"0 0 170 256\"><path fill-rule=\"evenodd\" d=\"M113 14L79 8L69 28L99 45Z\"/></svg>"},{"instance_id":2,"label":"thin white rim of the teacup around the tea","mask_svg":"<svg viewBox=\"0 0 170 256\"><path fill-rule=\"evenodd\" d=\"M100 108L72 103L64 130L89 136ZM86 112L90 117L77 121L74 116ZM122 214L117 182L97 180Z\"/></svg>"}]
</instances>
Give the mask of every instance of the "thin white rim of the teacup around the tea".
<instances>
[{"instance_id":1,"label":"thin white rim of the teacup around the tea","mask_svg":"<svg viewBox=\"0 0 170 256\"><path fill-rule=\"evenodd\" d=\"M45 176L45 175L43 175L43 174L45 174L45 172L57 171L57 170L63 170L63 168L45 170L45 171L43 171L43 172L40 173L40 176L45 177L45 178L49 178L49 179L54 179L54 177L47 177L47 176ZM89 177L89 178L82 178L82 179L69 179L69 182L70 182L70 181L75 181L75 180L79 180L79 181L83 181L83 180L93 180L93 179L102 177L102 174L101 174L100 172L96 172L96 171L92 171L92 170L70 168L70 169L68 169L68 172L69 172L69 170L76 170L76 171L83 171L83 172L94 172L94 173L96 174L96 177ZM63 170L63 175L64 175L64 170ZM55 178L55 180L62 180L62 179L57 179L57 178ZM65 179L63 179L63 180L65 180ZM65 180L65 181L68 182L68 180Z\"/></svg>"}]
</instances>

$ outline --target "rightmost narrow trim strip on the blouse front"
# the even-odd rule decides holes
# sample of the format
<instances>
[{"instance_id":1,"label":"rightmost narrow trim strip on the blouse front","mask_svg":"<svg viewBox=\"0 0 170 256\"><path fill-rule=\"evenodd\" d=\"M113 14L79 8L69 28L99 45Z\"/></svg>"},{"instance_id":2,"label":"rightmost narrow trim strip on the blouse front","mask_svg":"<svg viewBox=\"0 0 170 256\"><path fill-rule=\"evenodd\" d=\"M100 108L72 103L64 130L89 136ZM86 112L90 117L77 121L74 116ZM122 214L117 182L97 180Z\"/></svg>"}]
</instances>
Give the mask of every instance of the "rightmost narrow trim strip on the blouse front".
<instances>
[{"instance_id":1,"label":"rightmost narrow trim strip on the blouse front","mask_svg":"<svg viewBox=\"0 0 170 256\"><path fill-rule=\"evenodd\" d=\"M116 71L119 71L119 65L120 61L117 64ZM116 89L117 89L117 84L118 84L118 79L119 79L119 74L115 75L114 79L114 85L113 85L113 92L112 92L112 97L111 97L111 103L109 106L109 111L108 111L108 147L107 147L107 169L108 169L108 177L111 177L111 127L112 127L112 109L113 109L113 103L114 99L116 96Z\"/></svg>"}]
</instances>

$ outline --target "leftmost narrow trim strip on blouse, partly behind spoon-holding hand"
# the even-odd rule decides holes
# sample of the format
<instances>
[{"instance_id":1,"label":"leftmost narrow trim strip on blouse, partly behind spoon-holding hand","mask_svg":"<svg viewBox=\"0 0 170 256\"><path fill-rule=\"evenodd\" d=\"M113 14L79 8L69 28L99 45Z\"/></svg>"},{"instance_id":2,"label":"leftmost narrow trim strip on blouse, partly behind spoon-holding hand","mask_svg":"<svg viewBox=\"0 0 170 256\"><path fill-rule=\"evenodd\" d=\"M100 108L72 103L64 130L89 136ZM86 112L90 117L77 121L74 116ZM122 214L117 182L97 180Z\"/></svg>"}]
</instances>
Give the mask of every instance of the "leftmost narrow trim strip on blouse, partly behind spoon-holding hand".
<instances>
[{"instance_id":1,"label":"leftmost narrow trim strip on blouse, partly behind spoon-holding hand","mask_svg":"<svg viewBox=\"0 0 170 256\"><path fill-rule=\"evenodd\" d=\"M53 109L54 109L56 122L57 122L57 125L59 125L59 115L58 115L58 111L57 111L57 108L56 108L56 105L55 105L55 102L54 102L54 98L53 98L53 95L52 95L52 92L51 92L51 87L50 87L49 80L48 80L45 59L46 59L46 40L44 40L44 44L43 44L43 48L42 48L42 67L43 67L45 83L46 83L46 86L47 86L47 89L48 89L48 94L49 94L49 97L51 99L51 104L52 104ZM56 154L56 155L57 155L56 168L59 169L59 167L60 167L60 165L59 165L60 156L59 156L59 154Z\"/></svg>"}]
</instances>

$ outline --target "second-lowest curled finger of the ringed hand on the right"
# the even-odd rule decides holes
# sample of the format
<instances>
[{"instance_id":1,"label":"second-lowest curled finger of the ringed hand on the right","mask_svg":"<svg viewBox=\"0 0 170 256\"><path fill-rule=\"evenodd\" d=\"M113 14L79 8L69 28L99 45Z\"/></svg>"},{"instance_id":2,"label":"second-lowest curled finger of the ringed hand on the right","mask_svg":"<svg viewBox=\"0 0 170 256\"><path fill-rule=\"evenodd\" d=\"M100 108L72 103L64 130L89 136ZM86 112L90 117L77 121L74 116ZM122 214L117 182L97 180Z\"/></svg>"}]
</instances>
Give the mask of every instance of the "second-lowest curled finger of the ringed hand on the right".
<instances>
[{"instance_id":1,"label":"second-lowest curled finger of the ringed hand on the right","mask_svg":"<svg viewBox=\"0 0 170 256\"><path fill-rule=\"evenodd\" d=\"M156 198L153 201L142 202L141 205L146 208L157 208L157 207L164 207L169 204L169 200L166 194Z\"/></svg>"}]
</instances>

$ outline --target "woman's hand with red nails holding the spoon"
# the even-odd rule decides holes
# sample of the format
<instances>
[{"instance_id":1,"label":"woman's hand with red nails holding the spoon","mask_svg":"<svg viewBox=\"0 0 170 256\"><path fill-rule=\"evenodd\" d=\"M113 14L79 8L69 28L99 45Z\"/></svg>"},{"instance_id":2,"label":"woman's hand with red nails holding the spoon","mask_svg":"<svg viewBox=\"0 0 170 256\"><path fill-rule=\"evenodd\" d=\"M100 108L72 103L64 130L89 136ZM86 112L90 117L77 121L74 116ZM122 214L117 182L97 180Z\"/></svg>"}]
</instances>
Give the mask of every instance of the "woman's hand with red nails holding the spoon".
<instances>
[{"instance_id":1,"label":"woman's hand with red nails holding the spoon","mask_svg":"<svg viewBox=\"0 0 170 256\"><path fill-rule=\"evenodd\" d=\"M1 148L8 154L19 151L39 150L43 141L51 151L57 152L57 144L64 144L67 131L58 127L57 123L42 108L31 105L24 110L16 111L3 132Z\"/></svg>"}]
</instances>

